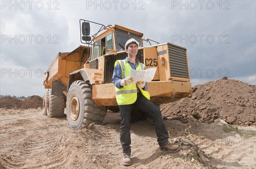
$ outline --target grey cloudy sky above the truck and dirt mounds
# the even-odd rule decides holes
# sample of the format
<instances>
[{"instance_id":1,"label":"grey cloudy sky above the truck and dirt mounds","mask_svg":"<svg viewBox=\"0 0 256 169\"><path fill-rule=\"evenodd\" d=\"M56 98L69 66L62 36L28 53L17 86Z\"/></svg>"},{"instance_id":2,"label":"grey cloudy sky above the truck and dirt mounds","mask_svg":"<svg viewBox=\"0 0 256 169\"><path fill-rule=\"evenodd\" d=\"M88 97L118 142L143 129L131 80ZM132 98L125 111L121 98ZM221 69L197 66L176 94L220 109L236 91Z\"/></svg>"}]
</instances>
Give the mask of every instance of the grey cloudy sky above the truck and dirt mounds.
<instances>
[{"instance_id":1,"label":"grey cloudy sky above the truck and dirt mounds","mask_svg":"<svg viewBox=\"0 0 256 169\"><path fill-rule=\"evenodd\" d=\"M255 0L2 0L0 94L43 96L52 59L82 45L79 19L187 48L192 86L223 76L256 85Z\"/></svg>"}]
</instances>

